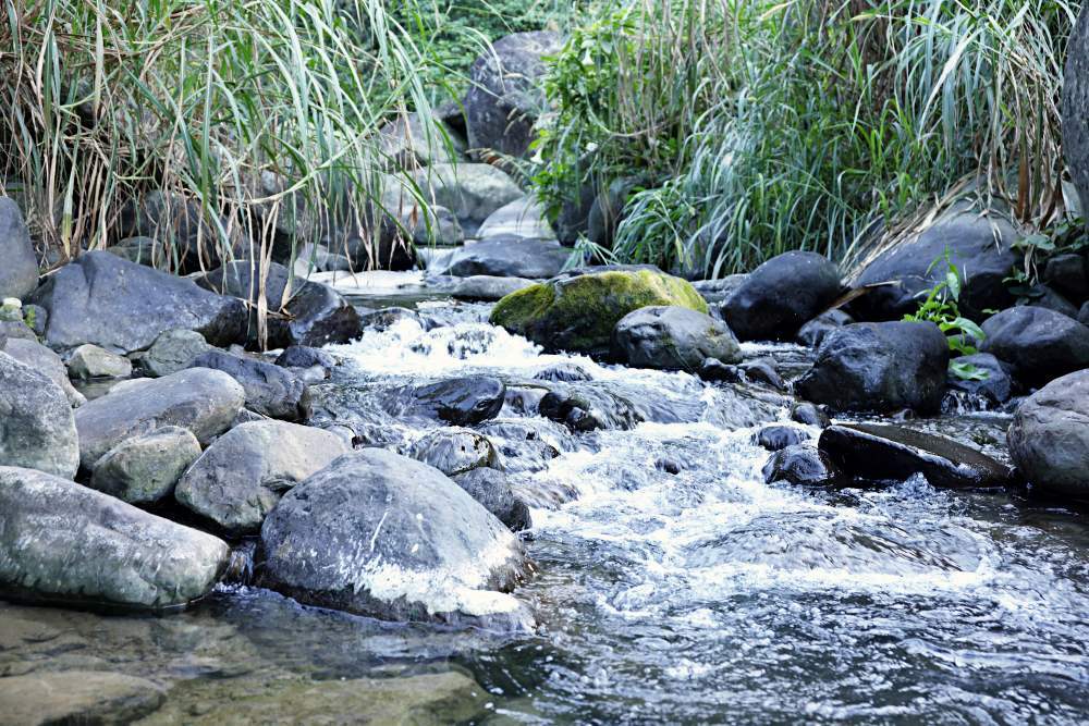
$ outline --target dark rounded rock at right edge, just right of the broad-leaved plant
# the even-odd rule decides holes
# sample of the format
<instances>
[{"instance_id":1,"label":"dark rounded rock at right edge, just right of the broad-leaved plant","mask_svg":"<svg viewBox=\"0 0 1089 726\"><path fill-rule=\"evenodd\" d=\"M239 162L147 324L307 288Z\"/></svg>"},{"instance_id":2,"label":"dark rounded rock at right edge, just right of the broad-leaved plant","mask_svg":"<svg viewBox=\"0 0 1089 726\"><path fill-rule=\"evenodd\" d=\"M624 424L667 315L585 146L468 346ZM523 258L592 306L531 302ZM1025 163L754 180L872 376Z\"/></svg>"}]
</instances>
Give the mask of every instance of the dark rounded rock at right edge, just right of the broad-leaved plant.
<instances>
[{"instance_id":1,"label":"dark rounded rock at right edge, just right of the broad-leaved plant","mask_svg":"<svg viewBox=\"0 0 1089 726\"><path fill-rule=\"evenodd\" d=\"M1089 367L1089 328L1033 306L1013 307L983 322L981 349L1013 366L1025 385L1039 386Z\"/></svg>"}]
</instances>

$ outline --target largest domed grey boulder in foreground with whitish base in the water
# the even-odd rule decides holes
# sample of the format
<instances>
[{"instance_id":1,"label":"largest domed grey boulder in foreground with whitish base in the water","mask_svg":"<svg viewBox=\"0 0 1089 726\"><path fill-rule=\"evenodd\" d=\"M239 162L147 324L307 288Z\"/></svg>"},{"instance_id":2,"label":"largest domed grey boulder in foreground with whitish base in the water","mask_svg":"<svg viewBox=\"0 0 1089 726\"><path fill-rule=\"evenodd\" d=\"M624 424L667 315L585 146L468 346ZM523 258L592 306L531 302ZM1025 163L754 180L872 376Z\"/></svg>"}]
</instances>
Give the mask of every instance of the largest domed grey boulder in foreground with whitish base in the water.
<instances>
[{"instance_id":1,"label":"largest domed grey boulder in foreground with whitish base in the water","mask_svg":"<svg viewBox=\"0 0 1089 726\"><path fill-rule=\"evenodd\" d=\"M392 620L525 628L509 591L517 539L438 469L379 448L341 456L261 527L264 585L299 602Z\"/></svg>"}]
</instances>

